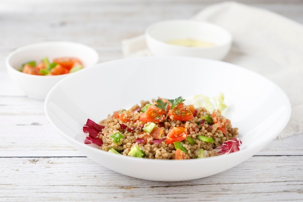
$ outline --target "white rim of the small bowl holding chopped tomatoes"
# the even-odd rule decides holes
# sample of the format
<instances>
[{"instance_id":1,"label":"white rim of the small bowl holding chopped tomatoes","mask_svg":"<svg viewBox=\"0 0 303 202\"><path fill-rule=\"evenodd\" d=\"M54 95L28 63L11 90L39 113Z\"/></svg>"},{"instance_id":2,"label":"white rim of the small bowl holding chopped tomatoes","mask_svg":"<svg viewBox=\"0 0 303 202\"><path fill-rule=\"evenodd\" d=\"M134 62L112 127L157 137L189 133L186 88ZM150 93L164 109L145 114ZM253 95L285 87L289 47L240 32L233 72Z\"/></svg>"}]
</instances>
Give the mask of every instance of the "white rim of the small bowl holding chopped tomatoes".
<instances>
[{"instance_id":1,"label":"white rim of the small bowl holding chopped tomatoes","mask_svg":"<svg viewBox=\"0 0 303 202\"><path fill-rule=\"evenodd\" d=\"M29 77L29 78L45 78L45 79L48 79L48 78L63 78L65 76L67 76L68 74L63 74L63 75L52 75L51 77L45 77L45 75L31 75L31 74L26 74L26 73L23 73L23 72L20 72L18 69L15 69L11 64L10 64L10 59L15 56L15 54L19 53L19 52L22 52L28 48L33 48L33 47L40 47L40 46L45 46L45 45L56 45L56 44L61 44L61 45L68 45L68 46L82 46L84 48L88 48L88 49L91 49L91 52L95 55L96 57L96 61L94 62L94 64L96 64L99 60L99 54L98 52L90 47L90 46L87 46L85 44L81 44L81 43L77 43L77 42L72 42L72 41L44 41L44 42L38 42L38 43L33 43L33 44L28 44L28 45L25 45L25 46L21 46L21 47L17 47L15 48L12 52L10 52L6 59L5 59L5 64L6 64L6 69L7 70L11 70L13 72L15 72L16 74L22 74L24 75L25 77ZM86 68L86 67L85 67Z\"/></svg>"}]
</instances>

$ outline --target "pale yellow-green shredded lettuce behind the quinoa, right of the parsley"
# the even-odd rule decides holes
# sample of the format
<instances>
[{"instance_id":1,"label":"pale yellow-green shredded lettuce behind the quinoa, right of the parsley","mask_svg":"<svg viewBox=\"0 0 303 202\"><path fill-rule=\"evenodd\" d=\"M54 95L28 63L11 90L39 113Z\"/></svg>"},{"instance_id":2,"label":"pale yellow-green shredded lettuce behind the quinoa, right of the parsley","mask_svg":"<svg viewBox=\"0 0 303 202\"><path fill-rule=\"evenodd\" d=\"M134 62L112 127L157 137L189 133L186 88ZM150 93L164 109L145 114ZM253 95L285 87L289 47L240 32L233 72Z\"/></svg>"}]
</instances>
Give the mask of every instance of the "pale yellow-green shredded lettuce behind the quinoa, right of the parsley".
<instances>
[{"instance_id":1,"label":"pale yellow-green shredded lettuce behind the quinoa, right of the parsley","mask_svg":"<svg viewBox=\"0 0 303 202\"><path fill-rule=\"evenodd\" d=\"M208 111L213 111L219 109L223 111L227 108L227 105L224 103L224 94L219 93L217 96L212 99L209 96L203 94L197 94L192 99L189 99L189 102L195 106L195 108L204 107Z\"/></svg>"}]
</instances>

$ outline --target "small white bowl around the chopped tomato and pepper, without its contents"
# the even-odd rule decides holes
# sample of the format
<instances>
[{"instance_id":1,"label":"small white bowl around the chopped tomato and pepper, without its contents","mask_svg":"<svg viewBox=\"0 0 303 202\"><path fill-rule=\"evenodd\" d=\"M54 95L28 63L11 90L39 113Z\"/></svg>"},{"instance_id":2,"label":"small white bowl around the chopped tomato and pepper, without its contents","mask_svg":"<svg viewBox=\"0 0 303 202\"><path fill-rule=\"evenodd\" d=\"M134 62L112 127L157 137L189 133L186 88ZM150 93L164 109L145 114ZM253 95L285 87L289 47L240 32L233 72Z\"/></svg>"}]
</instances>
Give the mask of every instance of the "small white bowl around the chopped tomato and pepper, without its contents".
<instances>
[{"instance_id":1,"label":"small white bowl around the chopped tomato and pepper, without its contents","mask_svg":"<svg viewBox=\"0 0 303 202\"><path fill-rule=\"evenodd\" d=\"M88 68L99 60L99 55L93 48L74 42L42 42L17 48L6 58L8 74L28 97L37 100L44 100L56 83L70 75L39 76L18 70L24 62L32 60L40 62L45 57L50 61L58 57L76 57L82 62L83 68Z\"/></svg>"}]
</instances>

